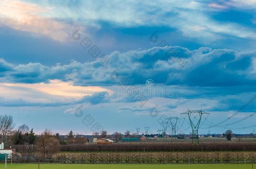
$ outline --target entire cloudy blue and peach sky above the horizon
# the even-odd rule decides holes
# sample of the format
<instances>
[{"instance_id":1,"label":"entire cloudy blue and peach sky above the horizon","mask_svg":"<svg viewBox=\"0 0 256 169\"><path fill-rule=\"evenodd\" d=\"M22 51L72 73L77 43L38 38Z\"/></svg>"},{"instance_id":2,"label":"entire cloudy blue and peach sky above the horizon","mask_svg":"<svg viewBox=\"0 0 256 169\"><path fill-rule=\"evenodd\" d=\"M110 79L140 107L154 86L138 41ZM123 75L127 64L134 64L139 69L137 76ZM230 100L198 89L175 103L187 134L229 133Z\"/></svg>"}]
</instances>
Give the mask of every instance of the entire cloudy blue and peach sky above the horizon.
<instances>
[{"instance_id":1,"label":"entire cloudy blue and peach sky above the horizon","mask_svg":"<svg viewBox=\"0 0 256 169\"><path fill-rule=\"evenodd\" d=\"M199 134L251 133L255 28L256 0L1 0L0 114L37 134L168 117L189 134L180 114L202 110Z\"/></svg>"}]
</instances>

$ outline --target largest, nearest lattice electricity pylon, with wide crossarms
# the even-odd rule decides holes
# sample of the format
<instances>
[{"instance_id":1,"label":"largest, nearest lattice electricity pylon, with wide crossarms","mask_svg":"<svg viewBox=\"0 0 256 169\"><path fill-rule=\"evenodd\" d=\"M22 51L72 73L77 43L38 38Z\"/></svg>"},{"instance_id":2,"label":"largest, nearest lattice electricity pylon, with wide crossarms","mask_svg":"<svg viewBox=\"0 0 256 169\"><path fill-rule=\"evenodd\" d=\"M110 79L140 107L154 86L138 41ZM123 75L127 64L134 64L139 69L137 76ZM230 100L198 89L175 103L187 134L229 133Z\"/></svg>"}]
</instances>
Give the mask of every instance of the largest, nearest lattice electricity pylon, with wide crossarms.
<instances>
[{"instance_id":1,"label":"largest, nearest lattice electricity pylon, with wide crossarms","mask_svg":"<svg viewBox=\"0 0 256 169\"><path fill-rule=\"evenodd\" d=\"M183 117L184 119L186 118L186 116L188 116L188 119L190 121L191 124L191 128L192 128L192 145L199 144L199 136L198 136L198 129L200 126L200 122L202 117L204 117L205 119L209 116L209 113L206 113L204 111L201 110L189 110L181 113L182 116L185 115L185 117ZM196 139L196 140L195 140Z\"/></svg>"}]
</instances>

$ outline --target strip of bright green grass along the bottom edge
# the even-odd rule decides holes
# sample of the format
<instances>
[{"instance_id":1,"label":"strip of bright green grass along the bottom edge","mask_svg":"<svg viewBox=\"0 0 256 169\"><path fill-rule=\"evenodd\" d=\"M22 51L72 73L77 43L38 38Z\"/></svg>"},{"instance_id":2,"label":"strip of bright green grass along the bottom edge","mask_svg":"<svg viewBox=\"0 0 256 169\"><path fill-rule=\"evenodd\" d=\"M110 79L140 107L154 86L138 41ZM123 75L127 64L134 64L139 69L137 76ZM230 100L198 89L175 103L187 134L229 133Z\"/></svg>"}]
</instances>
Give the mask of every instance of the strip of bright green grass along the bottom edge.
<instances>
[{"instance_id":1,"label":"strip of bright green grass along the bottom edge","mask_svg":"<svg viewBox=\"0 0 256 169\"><path fill-rule=\"evenodd\" d=\"M254 168L256 165L254 166ZM40 169L251 169L251 164L40 164ZM0 164L4 169L4 164ZM7 164L7 169L38 169L38 164Z\"/></svg>"}]
</instances>

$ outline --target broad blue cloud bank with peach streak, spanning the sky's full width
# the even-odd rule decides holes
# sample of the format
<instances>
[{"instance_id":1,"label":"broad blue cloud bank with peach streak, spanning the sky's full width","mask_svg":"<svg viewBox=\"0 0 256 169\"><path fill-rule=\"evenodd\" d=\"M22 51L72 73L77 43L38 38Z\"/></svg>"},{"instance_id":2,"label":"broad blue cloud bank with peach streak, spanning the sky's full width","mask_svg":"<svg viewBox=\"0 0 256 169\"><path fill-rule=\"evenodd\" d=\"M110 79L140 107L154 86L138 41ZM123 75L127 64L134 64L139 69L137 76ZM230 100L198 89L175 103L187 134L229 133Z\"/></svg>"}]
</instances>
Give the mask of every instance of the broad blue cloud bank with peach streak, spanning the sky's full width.
<instances>
[{"instance_id":1,"label":"broad blue cloud bank with peach streak, spanning the sky's full width","mask_svg":"<svg viewBox=\"0 0 256 169\"><path fill-rule=\"evenodd\" d=\"M167 91L171 87L175 96L151 94L148 99L205 98L215 103L214 98L219 96L244 95L255 91L255 55L255 51L206 47L189 50L166 46L124 53L115 51L106 56L109 58L106 65L102 65L99 58L86 63L72 61L68 65L51 67L40 63L15 66L1 59L0 66L4 71L1 72L0 88L2 97L13 100L22 98L28 102L21 101L24 105L136 103L141 101L137 97L109 95L122 86L145 87L146 80L152 79L153 88ZM220 101L225 99L219 98ZM3 105L6 104L4 102ZM216 109L213 105L207 108Z\"/></svg>"}]
</instances>

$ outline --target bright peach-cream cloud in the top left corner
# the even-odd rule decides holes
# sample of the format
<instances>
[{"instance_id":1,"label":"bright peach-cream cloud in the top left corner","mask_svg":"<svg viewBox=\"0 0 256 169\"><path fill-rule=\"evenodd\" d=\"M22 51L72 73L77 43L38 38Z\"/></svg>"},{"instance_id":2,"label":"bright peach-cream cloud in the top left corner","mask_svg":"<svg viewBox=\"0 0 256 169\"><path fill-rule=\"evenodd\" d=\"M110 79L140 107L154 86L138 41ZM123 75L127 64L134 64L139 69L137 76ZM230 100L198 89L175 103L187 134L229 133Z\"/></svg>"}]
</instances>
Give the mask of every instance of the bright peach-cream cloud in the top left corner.
<instances>
[{"instance_id":1,"label":"bright peach-cream cloud in the top left corner","mask_svg":"<svg viewBox=\"0 0 256 169\"><path fill-rule=\"evenodd\" d=\"M0 24L34 35L44 35L58 41L67 40L75 28L70 24L47 17L52 8L18 0L1 0Z\"/></svg>"}]
</instances>

